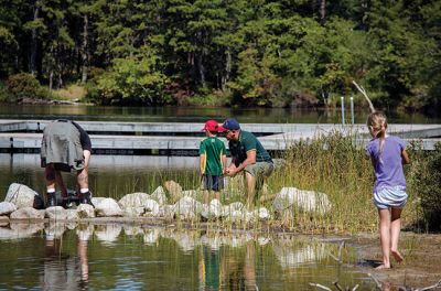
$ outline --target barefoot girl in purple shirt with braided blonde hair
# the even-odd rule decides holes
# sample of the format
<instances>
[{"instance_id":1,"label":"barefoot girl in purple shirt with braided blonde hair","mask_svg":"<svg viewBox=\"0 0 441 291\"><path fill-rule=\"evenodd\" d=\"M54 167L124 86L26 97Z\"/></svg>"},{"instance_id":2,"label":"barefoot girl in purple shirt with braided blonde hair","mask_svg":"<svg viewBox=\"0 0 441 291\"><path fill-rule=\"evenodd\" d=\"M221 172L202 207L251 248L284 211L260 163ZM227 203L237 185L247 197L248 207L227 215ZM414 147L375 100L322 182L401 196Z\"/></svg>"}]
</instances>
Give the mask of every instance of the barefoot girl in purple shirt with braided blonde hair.
<instances>
[{"instance_id":1,"label":"barefoot girl in purple shirt with braided blonde hair","mask_svg":"<svg viewBox=\"0 0 441 291\"><path fill-rule=\"evenodd\" d=\"M389 251L398 262L402 260L398 251L401 211L407 202L402 164L409 163L409 155L400 138L386 134L385 115L377 111L370 114L367 118L367 127L373 137L366 147L366 152L375 170L374 204L378 208L383 252L383 265L377 269L389 269Z\"/></svg>"}]
</instances>

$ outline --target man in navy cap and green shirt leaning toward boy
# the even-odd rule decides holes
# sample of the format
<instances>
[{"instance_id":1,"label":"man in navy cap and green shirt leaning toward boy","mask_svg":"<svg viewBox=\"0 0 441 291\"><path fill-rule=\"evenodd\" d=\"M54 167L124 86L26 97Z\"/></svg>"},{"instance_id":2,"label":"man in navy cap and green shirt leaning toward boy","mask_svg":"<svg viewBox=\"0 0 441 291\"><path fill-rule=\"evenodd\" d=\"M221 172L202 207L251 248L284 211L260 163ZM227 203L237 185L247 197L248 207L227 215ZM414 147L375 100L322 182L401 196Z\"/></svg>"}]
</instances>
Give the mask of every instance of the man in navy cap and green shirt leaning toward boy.
<instances>
[{"instance_id":1,"label":"man in navy cap and green shirt leaning toward boy","mask_svg":"<svg viewBox=\"0 0 441 291\"><path fill-rule=\"evenodd\" d=\"M252 211L256 187L261 187L263 179L272 173L272 159L255 134L240 129L236 119L228 118L218 130L225 132L233 158L226 174L235 176L245 171L247 209Z\"/></svg>"}]
</instances>

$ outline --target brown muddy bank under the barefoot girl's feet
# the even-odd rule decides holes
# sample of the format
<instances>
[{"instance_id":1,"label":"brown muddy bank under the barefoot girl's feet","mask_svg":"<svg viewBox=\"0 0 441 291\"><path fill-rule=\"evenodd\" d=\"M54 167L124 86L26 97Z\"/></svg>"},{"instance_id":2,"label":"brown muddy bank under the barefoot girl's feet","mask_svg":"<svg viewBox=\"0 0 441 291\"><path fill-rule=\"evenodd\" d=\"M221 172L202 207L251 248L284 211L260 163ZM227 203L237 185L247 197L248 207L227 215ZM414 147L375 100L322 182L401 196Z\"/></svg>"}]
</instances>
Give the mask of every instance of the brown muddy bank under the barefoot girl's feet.
<instances>
[{"instance_id":1,"label":"brown muddy bank under the barefoot girl's feet","mask_svg":"<svg viewBox=\"0 0 441 291\"><path fill-rule=\"evenodd\" d=\"M430 290L441 290L441 234L401 233L399 250L405 260L397 263L391 258L392 268L388 270L375 270L381 263L378 235L358 235L351 242L362 258L362 271L370 273L383 290L412 290L437 283L438 288Z\"/></svg>"}]
</instances>

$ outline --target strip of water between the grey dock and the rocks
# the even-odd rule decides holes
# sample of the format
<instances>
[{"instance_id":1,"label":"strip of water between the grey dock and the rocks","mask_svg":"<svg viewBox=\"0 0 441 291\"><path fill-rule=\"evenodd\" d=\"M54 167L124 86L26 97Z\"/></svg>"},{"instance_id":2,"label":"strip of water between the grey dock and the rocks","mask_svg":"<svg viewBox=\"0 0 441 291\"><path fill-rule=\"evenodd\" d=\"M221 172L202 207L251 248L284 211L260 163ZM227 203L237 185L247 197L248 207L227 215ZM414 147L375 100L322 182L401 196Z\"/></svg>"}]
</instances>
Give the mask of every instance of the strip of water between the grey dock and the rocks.
<instances>
[{"instance_id":1,"label":"strip of water between the grey dock and the rocks","mask_svg":"<svg viewBox=\"0 0 441 291\"><path fill-rule=\"evenodd\" d=\"M89 188L94 196L121 198L133 192L151 193L166 180L174 180L184 190L200 185L197 158L155 155L96 155L90 160ZM40 154L0 154L0 201L11 183L25 184L45 193L44 169ZM76 175L63 173L68 188L75 188Z\"/></svg>"}]
</instances>

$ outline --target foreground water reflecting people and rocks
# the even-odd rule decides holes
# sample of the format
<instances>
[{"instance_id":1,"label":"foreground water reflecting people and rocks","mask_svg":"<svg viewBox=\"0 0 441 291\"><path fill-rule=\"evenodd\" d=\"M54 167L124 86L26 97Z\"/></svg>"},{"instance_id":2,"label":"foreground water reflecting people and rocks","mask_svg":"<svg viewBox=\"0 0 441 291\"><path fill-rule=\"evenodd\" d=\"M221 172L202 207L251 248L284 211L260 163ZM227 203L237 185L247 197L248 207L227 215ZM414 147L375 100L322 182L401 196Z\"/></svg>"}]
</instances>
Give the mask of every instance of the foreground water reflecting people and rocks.
<instances>
[{"instance_id":1,"label":"foreground water reflecting people and rocks","mask_svg":"<svg viewBox=\"0 0 441 291\"><path fill-rule=\"evenodd\" d=\"M316 237L128 225L0 228L0 290L311 290L374 282L352 246ZM4 251L8 250L8 251Z\"/></svg>"}]
</instances>

